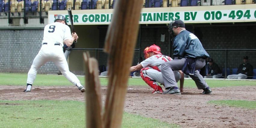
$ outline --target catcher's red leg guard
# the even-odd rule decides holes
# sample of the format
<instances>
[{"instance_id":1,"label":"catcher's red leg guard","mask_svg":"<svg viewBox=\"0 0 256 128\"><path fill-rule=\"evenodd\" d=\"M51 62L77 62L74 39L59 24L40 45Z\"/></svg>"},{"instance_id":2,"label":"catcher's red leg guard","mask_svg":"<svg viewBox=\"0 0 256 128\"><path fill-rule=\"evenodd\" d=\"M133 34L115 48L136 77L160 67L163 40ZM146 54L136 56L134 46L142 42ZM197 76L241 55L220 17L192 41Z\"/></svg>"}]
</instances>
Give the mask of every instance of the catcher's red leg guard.
<instances>
[{"instance_id":1,"label":"catcher's red leg guard","mask_svg":"<svg viewBox=\"0 0 256 128\"><path fill-rule=\"evenodd\" d=\"M142 80L144 80L151 88L154 89L152 93L163 93L163 89L161 88L161 86L158 85L155 80L151 80L149 77L145 77L143 75L143 70L140 71L140 76Z\"/></svg>"}]
</instances>

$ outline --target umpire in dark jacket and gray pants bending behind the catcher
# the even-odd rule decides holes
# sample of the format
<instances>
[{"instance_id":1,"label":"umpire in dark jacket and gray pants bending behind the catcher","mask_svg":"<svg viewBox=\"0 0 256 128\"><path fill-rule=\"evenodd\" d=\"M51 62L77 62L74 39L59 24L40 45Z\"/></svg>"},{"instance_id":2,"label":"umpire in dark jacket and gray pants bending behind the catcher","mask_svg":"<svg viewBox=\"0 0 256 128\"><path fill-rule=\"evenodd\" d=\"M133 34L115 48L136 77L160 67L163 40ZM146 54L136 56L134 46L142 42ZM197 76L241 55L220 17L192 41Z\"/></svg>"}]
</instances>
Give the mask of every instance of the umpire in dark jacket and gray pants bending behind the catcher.
<instances>
[{"instance_id":1,"label":"umpire in dark jacket and gray pants bending behind the catcher","mask_svg":"<svg viewBox=\"0 0 256 128\"><path fill-rule=\"evenodd\" d=\"M173 70L182 70L195 81L198 89L204 90L202 94L211 94L211 89L198 71L205 66L205 59L209 58L199 39L185 29L182 20L171 21L168 31L172 37L176 37L173 39L174 60L163 63L161 67L166 89L163 94L181 94Z\"/></svg>"}]
</instances>

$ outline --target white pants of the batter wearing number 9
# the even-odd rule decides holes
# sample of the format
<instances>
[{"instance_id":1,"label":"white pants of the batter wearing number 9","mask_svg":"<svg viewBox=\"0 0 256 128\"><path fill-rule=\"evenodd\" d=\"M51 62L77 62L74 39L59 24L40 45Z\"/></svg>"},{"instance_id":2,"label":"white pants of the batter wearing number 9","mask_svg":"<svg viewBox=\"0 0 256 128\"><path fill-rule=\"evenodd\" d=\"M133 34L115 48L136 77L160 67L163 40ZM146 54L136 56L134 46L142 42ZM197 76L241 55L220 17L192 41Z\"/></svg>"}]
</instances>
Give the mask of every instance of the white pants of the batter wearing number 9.
<instances>
[{"instance_id":1,"label":"white pants of the batter wearing number 9","mask_svg":"<svg viewBox=\"0 0 256 128\"><path fill-rule=\"evenodd\" d=\"M61 73L74 85L78 87L82 86L80 80L75 74L69 71L67 60L63 54L63 49L60 45L46 44L42 45L40 51L33 60L33 64L28 72L27 83L32 84L36 79L36 73L38 69L48 61L53 61L54 64L59 68Z\"/></svg>"}]
</instances>

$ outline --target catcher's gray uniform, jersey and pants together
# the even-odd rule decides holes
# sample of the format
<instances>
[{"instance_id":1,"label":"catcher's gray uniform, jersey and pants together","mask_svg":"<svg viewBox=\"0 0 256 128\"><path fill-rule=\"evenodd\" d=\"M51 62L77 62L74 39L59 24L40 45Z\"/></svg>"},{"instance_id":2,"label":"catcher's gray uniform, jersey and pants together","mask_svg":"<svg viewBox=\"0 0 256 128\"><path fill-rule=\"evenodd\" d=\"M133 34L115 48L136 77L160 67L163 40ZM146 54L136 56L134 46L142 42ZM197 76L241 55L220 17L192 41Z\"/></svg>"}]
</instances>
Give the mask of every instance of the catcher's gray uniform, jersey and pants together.
<instances>
[{"instance_id":1,"label":"catcher's gray uniform, jersey and pants together","mask_svg":"<svg viewBox=\"0 0 256 128\"><path fill-rule=\"evenodd\" d=\"M164 79L162 76L161 71L155 70L151 67L158 67L159 70L161 70L161 64L164 62L173 60L169 56L165 55L152 55L151 57L147 58L146 60L142 61L140 64L142 65L143 68L149 67L147 70L142 70L143 76L144 77L149 77L152 80L157 81L158 83L164 84ZM178 71L173 71L176 82L180 80L180 73Z\"/></svg>"}]
</instances>

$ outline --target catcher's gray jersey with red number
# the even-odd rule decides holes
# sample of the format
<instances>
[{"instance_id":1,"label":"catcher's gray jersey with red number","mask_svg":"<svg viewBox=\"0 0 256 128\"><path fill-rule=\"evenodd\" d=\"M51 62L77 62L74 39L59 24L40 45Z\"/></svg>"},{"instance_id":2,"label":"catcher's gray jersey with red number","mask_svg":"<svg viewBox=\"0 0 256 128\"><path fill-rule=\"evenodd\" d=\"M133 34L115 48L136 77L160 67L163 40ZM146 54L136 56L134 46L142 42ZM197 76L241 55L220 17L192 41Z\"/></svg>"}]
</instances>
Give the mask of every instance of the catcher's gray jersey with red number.
<instances>
[{"instance_id":1,"label":"catcher's gray jersey with red number","mask_svg":"<svg viewBox=\"0 0 256 128\"><path fill-rule=\"evenodd\" d=\"M151 57L142 61L140 64L142 65L143 68L152 67L155 70L157 70L158 68L159 71L161 71L161 64L171 60L173 59L170 58L169 56L158 54L158 55L152 55Z\"/></svg>"}]
</instances>

